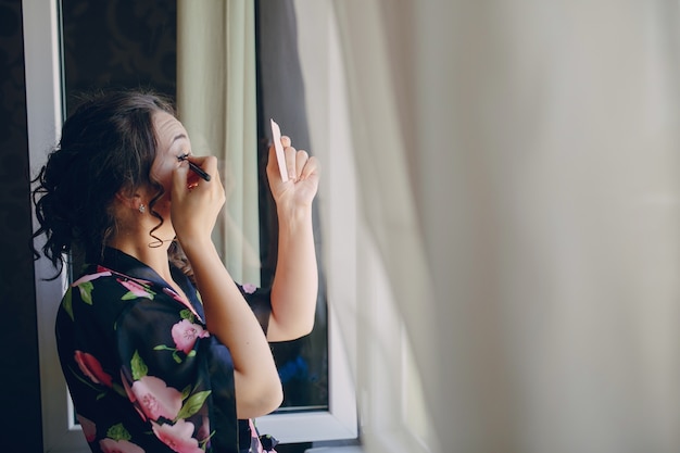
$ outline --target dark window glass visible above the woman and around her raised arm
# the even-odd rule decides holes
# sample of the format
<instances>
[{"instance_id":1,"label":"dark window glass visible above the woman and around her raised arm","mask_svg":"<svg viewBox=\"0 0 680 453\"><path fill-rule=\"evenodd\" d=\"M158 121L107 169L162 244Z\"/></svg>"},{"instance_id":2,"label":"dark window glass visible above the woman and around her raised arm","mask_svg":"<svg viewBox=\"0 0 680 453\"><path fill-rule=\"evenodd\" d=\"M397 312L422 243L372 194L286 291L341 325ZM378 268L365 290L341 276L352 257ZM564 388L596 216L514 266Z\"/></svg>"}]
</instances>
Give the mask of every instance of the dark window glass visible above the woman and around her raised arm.
<instances>
[{"instance_id":1,"label":"dark window glass visible above the woman and around her raised arm","mask_svg":"<svg viewBox=\"0 0 680 453\"><path fill-rule=\"evenodd\" d=\"M151 88L175 99L176 1L62 0L61 9L66 115L77 104L80 93L101 88ZM260 135L265 136L263 131ZM260 161L261 186L268 190L262 180L265 162ZM261 218L265 225L261 230L263 286L270 282L274 270L270 255L276 234L272 228L276 225L267 222L273 209L266 200L260 200ZM320 249L318 242L317 247ZM73 261L72 273L77 273L83 263L77 256ZM328 410L328 330L324 293L322 281L314 331L302 339L272 345L285 393L284 404L277 412Z\"/></svg>"}]
</instances>

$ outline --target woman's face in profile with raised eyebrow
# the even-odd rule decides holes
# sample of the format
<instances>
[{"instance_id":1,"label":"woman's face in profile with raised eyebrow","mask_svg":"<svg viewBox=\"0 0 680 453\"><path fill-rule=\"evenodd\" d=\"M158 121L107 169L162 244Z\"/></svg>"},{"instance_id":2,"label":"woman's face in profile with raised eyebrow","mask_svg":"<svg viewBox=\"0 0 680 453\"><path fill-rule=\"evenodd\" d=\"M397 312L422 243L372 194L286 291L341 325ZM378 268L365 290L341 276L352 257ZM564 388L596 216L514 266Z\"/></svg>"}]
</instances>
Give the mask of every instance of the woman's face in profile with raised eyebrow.
<instances>
[{"instance_id":1,"label":"woman's face in profile with raised eyebrow","mask_svg":"<svg viewBox=\"0 0 680 453\"><path fill-rule=\"evenodd\" d=\"M166 217L169 215L173 171L181 164L177 158L191 154L191 142L185 127L169 113L158 111L153 113L152 122L158 140L158 153L151 165L151 177L165 189L154 210Z\"/></svg>"}]
</instances>

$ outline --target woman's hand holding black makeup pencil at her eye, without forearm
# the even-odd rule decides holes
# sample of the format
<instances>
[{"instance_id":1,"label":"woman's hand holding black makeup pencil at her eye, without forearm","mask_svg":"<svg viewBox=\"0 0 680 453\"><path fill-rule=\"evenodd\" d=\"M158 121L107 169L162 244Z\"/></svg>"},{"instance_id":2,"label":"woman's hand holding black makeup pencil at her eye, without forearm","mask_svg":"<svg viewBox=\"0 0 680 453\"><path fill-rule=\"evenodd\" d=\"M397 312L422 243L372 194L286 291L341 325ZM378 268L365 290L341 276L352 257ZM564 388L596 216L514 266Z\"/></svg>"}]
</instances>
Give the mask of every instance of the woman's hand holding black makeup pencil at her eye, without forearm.
<instances>
[{"instance_id":1,"label":"woman's hand holding black makeup pencil at her eye, without forearm","mask_svg":"<svg viewBox=\"0 0 680 453\"><path fill-rule=\"evenodd\" d=\"M199 178L188 162L182 162L173 172L171 221L185 251L193 244L212 241L211 234L226 200L217 159L211 155L190 156L189 160L211 175L211 180Z\"/></svg>"}]
</instances>

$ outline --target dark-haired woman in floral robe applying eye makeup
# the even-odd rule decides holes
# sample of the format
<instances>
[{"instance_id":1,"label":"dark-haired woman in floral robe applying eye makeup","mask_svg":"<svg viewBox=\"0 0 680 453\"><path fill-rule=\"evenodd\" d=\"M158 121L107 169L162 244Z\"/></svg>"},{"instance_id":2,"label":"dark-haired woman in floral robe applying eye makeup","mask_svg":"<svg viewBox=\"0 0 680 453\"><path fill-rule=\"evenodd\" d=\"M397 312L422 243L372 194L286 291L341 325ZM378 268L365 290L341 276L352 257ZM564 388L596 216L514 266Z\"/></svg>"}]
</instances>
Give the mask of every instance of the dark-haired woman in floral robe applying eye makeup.
<instances>
[{"instance_id":1,"label":"dark-haired woman in floral robe applying eye makeup","mask_svg":"<svg viewBox=\"0 0 680 453\"><path fill-rule=\"evenodd\" d=\"M35 236L46 235L58 269L64 254L88 263L55 330L93 452L262 449L250 419L282 399L268 341L310 332L317 291L317 162L281 142L290 179L272 148L279 261L267 291L236 285L224 267L211 240L225 202L216 159L191 154L167 102L104 93L65 122L37 178Z\"/></svg>"}]
</instances>

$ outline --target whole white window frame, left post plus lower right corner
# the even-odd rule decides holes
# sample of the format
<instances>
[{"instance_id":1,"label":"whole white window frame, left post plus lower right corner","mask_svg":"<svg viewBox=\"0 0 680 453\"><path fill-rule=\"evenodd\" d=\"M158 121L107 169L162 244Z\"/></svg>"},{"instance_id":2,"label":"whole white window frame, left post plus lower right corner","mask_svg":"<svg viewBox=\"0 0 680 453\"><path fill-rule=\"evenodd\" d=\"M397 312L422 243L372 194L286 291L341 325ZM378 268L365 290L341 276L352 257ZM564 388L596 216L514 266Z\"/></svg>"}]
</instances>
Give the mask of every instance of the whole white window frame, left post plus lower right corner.
<instances>
[{"instance_id":1,"label":"whole white window frame, left post plus lower right corner","mask_svg":"<svg viewBox=\"0 0 680 453\"><path fill-rule=\"evenodd\" d=\"M32 175L47 162L49 150L59 140L63 123L63 84L61 70L61 24L59 0L23 0L24 52L26 62L26 110L28 154ZM329 155L332 155L329 153ZM333 163L328 162L331 168ZM333 169L335 172L335 169ZM329 175L328 175L329 176ZM325 176L327 177L327 176ZM336 199L344 199L342 177L338 184L326 185L329 207ZM340 205L338 205L340 206ZM347 207L342 206L343 209ZM355 206L350 206L352 210ZM338 210L335 210L338 212ZM356 269L355 252L347 253L347 231L352 231L355 215L342 212L332 222L344 223L338 234L325 239L326 264L329 275ZM332 214L331 214L332 215ZM34 214L34 228L37 228ZM35 243L41 247L41 240ZM355 243L355 242L353 242ZM341 257L333 259L333 253ZM341 267L339 267L341 266ZM56 279L51 263L40 257L35 262L35 286L40 361L40 391L42 402L43 451L50 453L88 452L79 425L74 424L73 407L66 389L54 343L54 319L61 297L67 286L64 270ZM354 278L350 278L354 281ZM355 289L329 285L328 300L335 303L355 303ZM356 399L354 393L354 353L348 353L341 338L337 315L328 310L329 410L308 413L281 413L257 419L262 432L272 433L284 443L355 439L357 437ZM354 342L350 342L354 344Z\"/></svg>"}]
</instances>

